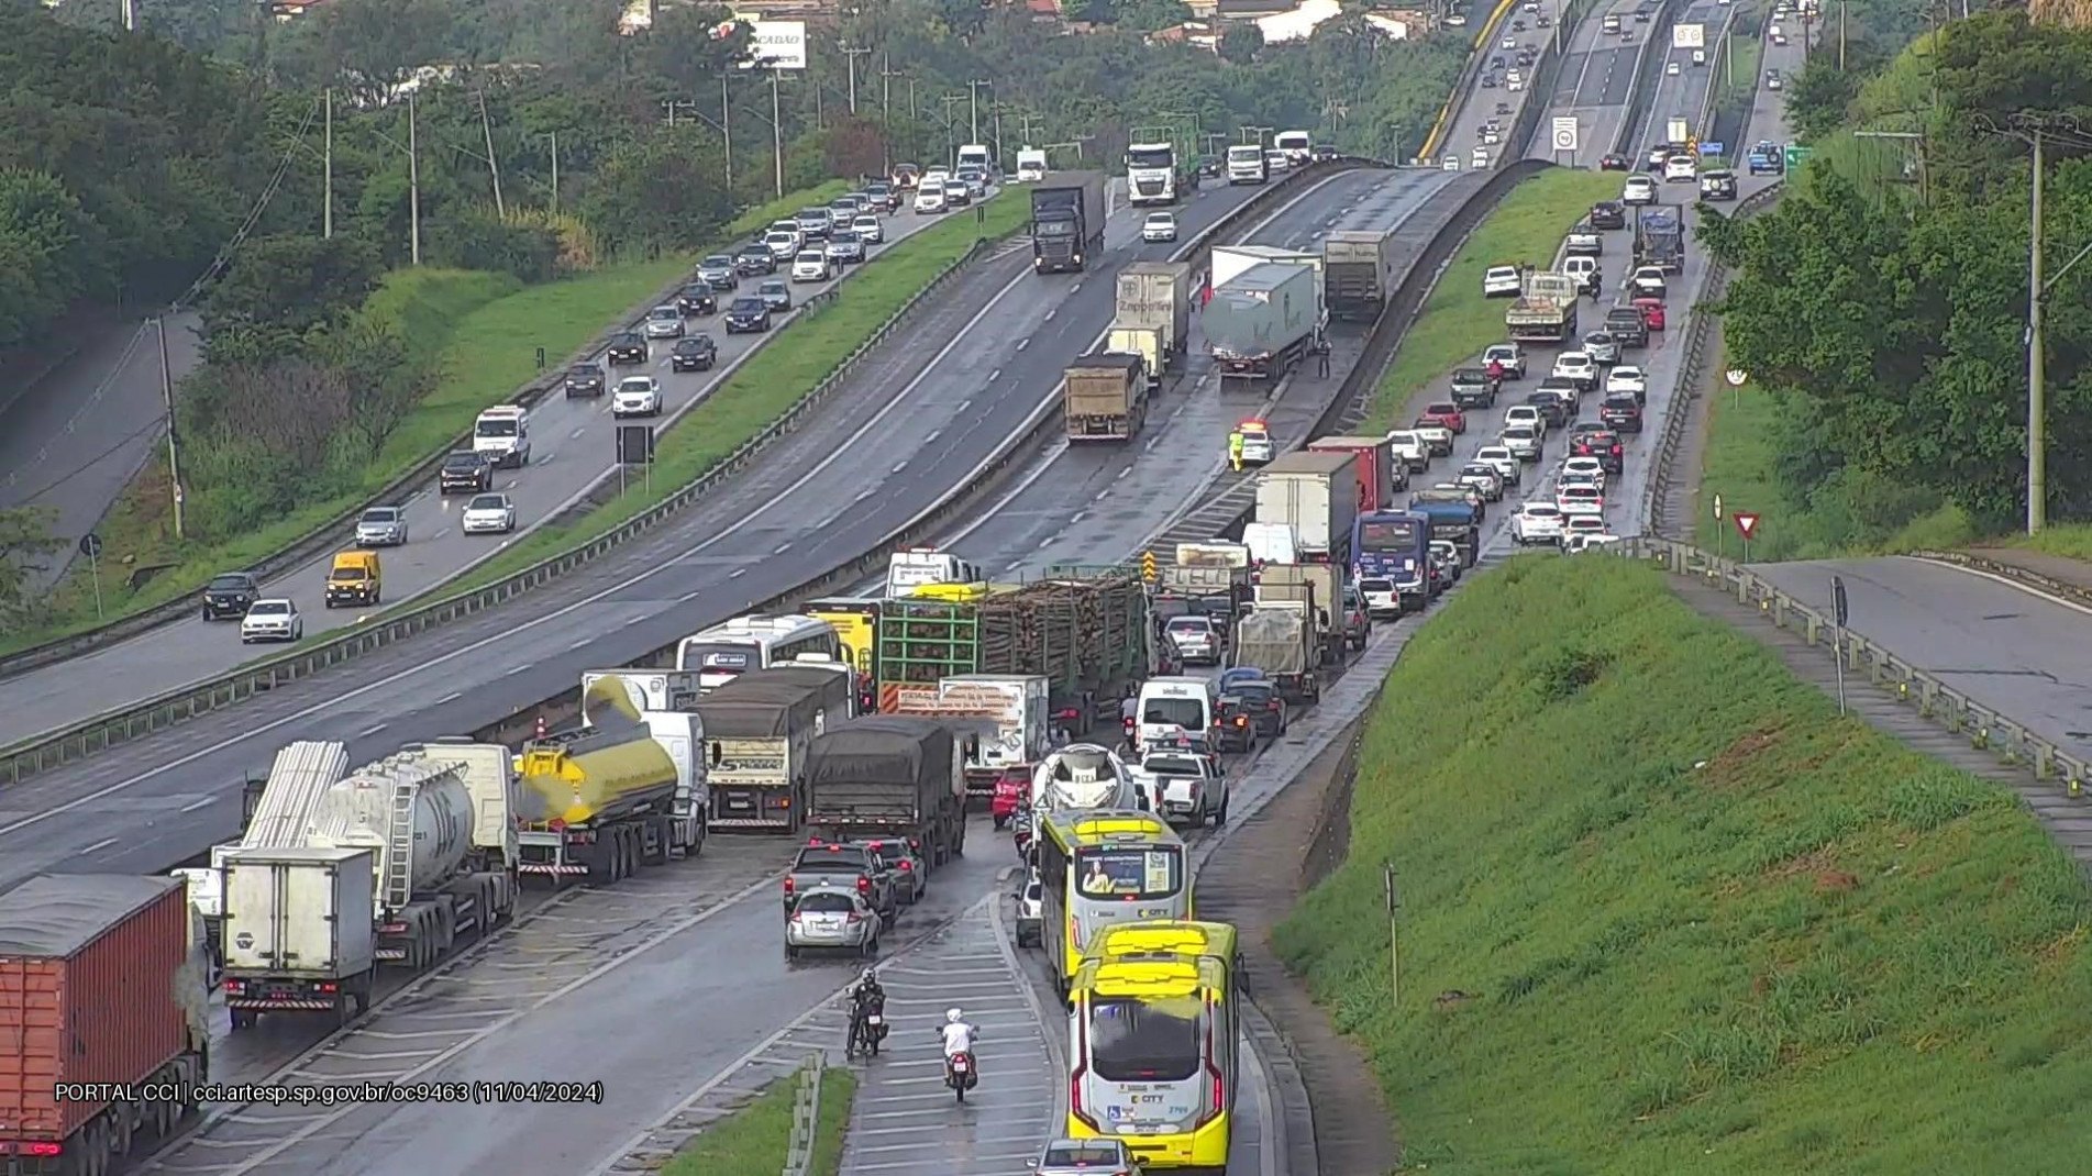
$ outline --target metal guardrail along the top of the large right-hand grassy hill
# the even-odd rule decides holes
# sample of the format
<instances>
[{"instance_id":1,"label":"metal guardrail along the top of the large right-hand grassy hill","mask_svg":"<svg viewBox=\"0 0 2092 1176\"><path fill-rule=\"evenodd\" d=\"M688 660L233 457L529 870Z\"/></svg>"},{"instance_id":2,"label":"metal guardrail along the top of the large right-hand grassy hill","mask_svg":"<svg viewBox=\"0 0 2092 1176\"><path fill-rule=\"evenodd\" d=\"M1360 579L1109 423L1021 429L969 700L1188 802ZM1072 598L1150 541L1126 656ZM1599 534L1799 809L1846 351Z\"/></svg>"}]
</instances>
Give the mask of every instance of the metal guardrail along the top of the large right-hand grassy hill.
<instances>
[{"instance_id":1,"label":"metal guardrail along the top of the large right-hand grassy hill","mask_svg":"<svg viewBox=\"0 0 2092 1176\"><path fill-rule=\"evenodd\" d=\"M2086 760L1977 703L1881 642L1841 630L1833 617L1780 592L1734 561L1707 555L1690 544L1648 536L1628 540L1619 548L1625 557L1663 565L1672 575L1692 575L1718 584L1724 592L1732 592L1738 605L1757 605L1759 615L1774 626L1799 630L1810 647L1843 659L1847 672L1864 674L1866 682L1914 705L1918 716L1937 722L1952 734L1966 737L1971 747L1994 751L2006 764L2031 768L2036 781L2063 781L2067 795L2075 797L2082 793L2084 781L2092 776L2092 764Z\"/></svg>"}]
</instances>

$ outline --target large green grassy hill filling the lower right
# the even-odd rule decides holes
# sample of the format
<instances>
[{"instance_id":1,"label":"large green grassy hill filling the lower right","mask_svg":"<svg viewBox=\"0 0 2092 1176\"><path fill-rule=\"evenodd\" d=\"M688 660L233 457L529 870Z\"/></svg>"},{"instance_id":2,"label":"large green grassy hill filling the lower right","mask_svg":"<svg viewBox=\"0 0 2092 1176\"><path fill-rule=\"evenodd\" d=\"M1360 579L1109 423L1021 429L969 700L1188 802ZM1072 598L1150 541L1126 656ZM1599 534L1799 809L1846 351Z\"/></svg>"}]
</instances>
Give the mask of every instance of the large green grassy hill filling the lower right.
<instances>
[{"instance_id":1,"label":"large green grassy hill filling the lower right","mask_svg":"<svg viewBox=\"0 0 2092 1176\"><path fill-rule=\"evenodd\" d=\"M1362 764L1351 858L1276 940L1412 1168L2086 1170L2077 866L1657 571L1483 575L1404 649Z\"/></svg>"}]
</instances>

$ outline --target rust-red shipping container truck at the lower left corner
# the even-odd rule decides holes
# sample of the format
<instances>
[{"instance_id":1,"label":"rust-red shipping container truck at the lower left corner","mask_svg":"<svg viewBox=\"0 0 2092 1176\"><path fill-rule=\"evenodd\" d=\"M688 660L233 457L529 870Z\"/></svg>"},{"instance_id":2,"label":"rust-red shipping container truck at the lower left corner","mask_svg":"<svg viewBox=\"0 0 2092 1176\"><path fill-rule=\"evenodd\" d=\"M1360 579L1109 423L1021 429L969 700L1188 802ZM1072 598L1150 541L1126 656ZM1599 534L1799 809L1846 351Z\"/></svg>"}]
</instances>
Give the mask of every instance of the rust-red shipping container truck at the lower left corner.
<instances>
[{"instance_id":1,"label":"rust-red shipping container truck at the lower left corner","mask_svg":"<svg viewBox=\"0 0 2092 1176\"><path fill-rule=\"evenodd\" d=\"M42 875L0 894L0 1140L63 1140L107 1103L61 1082L146 1082L188 1048L180 879Z\"/></svg>"}]
</instances>

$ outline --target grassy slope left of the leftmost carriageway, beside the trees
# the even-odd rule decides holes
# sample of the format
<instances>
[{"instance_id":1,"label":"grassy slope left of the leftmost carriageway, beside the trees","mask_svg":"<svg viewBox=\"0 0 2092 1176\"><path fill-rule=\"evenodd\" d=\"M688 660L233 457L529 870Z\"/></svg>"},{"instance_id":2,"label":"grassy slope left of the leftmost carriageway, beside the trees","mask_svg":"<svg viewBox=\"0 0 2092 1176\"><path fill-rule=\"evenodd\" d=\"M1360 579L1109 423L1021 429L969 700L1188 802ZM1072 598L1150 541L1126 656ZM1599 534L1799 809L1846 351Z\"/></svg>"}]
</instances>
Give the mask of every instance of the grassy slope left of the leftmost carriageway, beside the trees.
<instances>
[{"instance_id":1,"label":"grassy slope left of the leftmost carriageway, beside the trees","mask_svg":"<svg viewBox=\"0 0 2092 1176\"><path fill-rule=\"evenodd\" d=\"M782 201L749 209L720 239L726 249L772 220L810 203L826 203L847 184L831 182ZM174 540L167 469L155 458L111 506L96 527L103 536L103 605L109 619L153 609L186 596L220 571L253 567L289 548L328 519L368 502L416 462L441 452L471 429L481 408L508 400L540 375L538 347L546 364L559 364L596 333L630 316L661 287L688 270L690 255L653 262L611 264L586 274L521 287L506 274L471 270L395 270L364 301L360 316L377 329L393 331L416 360L437 366L429 395L385 439L379 456L364 467L354 492L287 511L268 527L228 542L197 544ZM209 494L192 485L188 494ZM132 590L134 567L165 567ZM48 619L23 632L0 634L0 653L27 649L94 628L94 592L86 561L75 561L65 582L50 594Z\"/></svg>"}]
</instances>

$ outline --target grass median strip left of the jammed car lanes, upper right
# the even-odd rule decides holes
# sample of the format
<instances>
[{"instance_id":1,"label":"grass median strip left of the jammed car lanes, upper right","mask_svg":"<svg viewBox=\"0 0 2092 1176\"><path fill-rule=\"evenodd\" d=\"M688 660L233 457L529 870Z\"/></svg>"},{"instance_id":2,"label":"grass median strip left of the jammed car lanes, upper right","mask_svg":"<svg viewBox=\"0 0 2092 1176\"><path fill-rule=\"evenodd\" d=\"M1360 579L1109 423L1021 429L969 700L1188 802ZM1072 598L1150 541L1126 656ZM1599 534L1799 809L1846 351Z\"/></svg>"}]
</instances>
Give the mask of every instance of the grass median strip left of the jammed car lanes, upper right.
<instances>
[{"instance_id":1,"label":"grass median strip left of the jammed car lanes, upper right","mask_svg":"<svg viewBox=\"0 0 2092 1176\"><path fill-rule=\"evenodd\" d=\"M1490 266L1531 264L1548 268L1563 234L1590 205L1619 197L1619 176L1559 167L1525 180L1483 220L1439 276L1423 316L1402 337L1393 362L1372 393L1364 431L1393 429L1408 421L1418 391L1473 360L1490 343L1504 341L1508 299L1481 297L1481 274Z\"/></svg>"}]
</instances>

